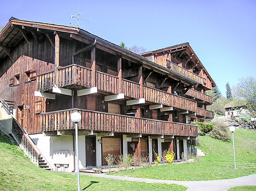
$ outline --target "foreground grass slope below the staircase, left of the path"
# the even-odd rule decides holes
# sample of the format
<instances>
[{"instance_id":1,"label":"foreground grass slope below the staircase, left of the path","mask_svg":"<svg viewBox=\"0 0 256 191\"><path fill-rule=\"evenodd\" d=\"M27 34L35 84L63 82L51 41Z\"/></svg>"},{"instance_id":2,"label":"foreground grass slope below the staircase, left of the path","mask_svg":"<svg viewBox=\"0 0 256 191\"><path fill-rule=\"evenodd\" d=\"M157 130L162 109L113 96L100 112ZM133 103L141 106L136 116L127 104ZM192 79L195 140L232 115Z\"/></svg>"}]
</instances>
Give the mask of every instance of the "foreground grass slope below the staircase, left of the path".
<instances>
[{"instance_id":1,"label":"foreground grass slope below the staircase, left of the path","mask_svg":"<svg viewBox=\"0 0 256 191\"><path fill-rule=\"evenodd\" d=\"M32 164L23 151L11 145L9 138L0 136L0 190L1 191L75 191L77 176L43 170ZM88 191L172 190L185 191L179 185L150 184L80 176L81 189Z\"/></svg>"}]
</instances>

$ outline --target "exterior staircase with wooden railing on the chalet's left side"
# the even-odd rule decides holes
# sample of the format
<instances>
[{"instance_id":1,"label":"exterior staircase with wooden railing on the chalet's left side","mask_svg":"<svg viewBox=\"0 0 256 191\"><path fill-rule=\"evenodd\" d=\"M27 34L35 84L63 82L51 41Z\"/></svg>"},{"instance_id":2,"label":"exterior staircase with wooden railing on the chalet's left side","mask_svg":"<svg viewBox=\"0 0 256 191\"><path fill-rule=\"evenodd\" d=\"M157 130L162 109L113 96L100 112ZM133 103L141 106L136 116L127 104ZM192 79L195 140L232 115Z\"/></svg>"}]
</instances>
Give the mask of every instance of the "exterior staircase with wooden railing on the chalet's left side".
<instances>
[{"instance_id":1,"label":"exterior staircase with wooden railing on the chalet's left side","mask_svg":"<svg viewBox=\"0 0 256 191\"><path fill-rule=\"evenodd\" d=\"M53 170L50 164L43 157L37 146L34 144L32 139L29 137L27 132L22 128L19 124L19 121L12 115L12 106L8 105L8 103L14 103L9 101L8 103L4 100L0 100L2 103L2 107L6 111L8 115L12 116L12 136L15 141L19 144L20 148L24 150L24 154L28 156L32 163L43 168L45 170Z\"/></svg>"}]
</instances>

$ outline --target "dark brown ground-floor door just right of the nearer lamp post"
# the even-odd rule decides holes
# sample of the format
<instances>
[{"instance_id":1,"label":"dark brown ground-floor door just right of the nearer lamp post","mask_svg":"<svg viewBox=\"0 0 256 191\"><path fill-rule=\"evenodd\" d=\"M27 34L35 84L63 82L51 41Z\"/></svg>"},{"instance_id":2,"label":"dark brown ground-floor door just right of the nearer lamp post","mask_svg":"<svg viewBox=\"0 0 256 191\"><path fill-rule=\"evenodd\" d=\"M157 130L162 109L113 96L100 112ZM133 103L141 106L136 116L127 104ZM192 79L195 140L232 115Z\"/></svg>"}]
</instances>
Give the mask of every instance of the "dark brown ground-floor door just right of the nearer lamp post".
<instances>
[{"instance_id":1,"label":"dark brown ground-floor door just right of the nearer lamp post","mask_svg":"<svg viewBox=\"0 0 256 191\"><path fill-rule=\"evenodd\" d=\"M85 137L86 166L96 166L96 136Z\"/></svg>"}]
</instances>

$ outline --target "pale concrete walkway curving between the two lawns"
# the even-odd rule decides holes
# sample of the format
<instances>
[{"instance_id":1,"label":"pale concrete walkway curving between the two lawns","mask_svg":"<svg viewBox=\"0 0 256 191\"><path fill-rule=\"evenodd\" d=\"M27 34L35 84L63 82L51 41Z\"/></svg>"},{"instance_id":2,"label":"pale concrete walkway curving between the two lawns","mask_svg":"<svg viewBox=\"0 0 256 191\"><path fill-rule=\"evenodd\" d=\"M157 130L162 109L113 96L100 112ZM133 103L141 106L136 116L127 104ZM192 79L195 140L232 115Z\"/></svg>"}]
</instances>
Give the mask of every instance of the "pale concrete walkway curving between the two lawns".
<instances>
[{"instance_id":1,"label":"pale concrete walkway curving between the two lawns","mask_svg":"<svg viewBox=\"0 0 256 191\"><path fill-rule=\"evenodd\" d=\"M147 183L179 184L179 185L188 187L189 191L223 191L223 190L227 190L228 188L232 188L236 186L255 186L256 185L256 174L252 174L249 176L242 176L235 179L213 180L213 181L170 181L170 180L134 178L134 177L128 177L128 176L115 176L115 175L106 175L106 174L98 174L98 173L80 172L80 174L88 175L88 176L96 176L100 178L107 178L107 179L138 181L138 182L147 182Z\"/></svg>"}]
</instances>

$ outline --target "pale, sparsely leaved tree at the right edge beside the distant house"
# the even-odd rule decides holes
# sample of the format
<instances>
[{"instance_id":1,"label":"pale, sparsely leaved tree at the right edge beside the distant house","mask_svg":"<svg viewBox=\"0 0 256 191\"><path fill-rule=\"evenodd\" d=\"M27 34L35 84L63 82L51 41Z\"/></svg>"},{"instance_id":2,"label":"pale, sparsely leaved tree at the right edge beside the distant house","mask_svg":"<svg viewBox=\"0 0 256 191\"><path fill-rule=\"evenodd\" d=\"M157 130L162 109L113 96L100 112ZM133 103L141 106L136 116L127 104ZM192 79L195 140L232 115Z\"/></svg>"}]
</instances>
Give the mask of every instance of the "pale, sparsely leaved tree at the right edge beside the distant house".
<instances>
[{"instance_id":1,"label":"pale, sparsely leaved tree at the right edge beside the distant house","mask_svg":"<svg viewBox=\"0 0 256 191\"><path fill-rule=\"evenodd\" d=\"M241 78L239 83L234 88L235 103L239 103L241 100L245 101L246 107L250 112L256 114L256 79L253 77Z\"/></svg>"}]
</instances>

